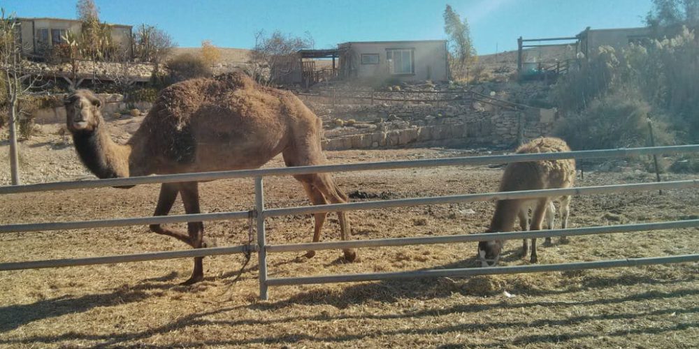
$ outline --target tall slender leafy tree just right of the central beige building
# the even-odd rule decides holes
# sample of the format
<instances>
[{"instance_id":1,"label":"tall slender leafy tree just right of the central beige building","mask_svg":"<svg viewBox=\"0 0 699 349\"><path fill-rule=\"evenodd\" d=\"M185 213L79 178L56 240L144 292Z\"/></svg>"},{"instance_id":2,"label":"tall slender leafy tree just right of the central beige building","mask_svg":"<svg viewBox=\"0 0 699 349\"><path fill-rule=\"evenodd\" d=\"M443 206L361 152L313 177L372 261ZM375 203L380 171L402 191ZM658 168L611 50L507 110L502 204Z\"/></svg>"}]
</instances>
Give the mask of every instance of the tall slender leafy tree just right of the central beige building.
<instances>
[{"instance_id":1,"label":"tall slender leafy tree just right of the central beige building","mask_svg":"<svg viewBox=\"0 0 699 349\"><path fill-rule=\"evenodd\" d=\"M468 20L464 17L462 21L449 5L444 10L444 31L449 36L449 66L452 73L460 75L468 64L475 61L476 50L471 41Z\"/></svg>"}]
</instances>

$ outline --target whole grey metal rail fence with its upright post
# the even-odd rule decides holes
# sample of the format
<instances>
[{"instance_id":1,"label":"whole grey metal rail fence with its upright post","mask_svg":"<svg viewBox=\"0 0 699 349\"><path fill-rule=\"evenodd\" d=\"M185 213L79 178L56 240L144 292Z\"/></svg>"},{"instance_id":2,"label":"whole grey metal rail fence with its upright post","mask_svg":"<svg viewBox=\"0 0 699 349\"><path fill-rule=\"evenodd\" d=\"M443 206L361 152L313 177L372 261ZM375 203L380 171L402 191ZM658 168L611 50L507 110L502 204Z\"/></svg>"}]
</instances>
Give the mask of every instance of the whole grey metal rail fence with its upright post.
<instances>
[{"instance_id":1,"label":"whole grey metal rail fence with its upright post","mask_svg":"<svg viewBox=\"0 0 699 349\"><path fill-rule=\"evenodd\" d=\"M496 156L470 156L459 158L440 158L415 161L388 161L376 163L353 163L344 165L317 165L296 168L268 168L261 170L236 170L221 172L200 172L187 174L166 174L148 177L131 177L117 179L93 179L87 181L64 181L55 183L29 184L24 186L0 187L0 195L10 193L27 193L36 191L56 191L76 188L99 188L108 186L130 186L136 184L172 183L179 181L209 181L215 179L254 177L255 207L250 211L230 211L213 214L189 214L175 216L152 216L136 218L117 218L97 221L71 221L51 223L20 223L0 225L0 234L10 232L30 232L42 230L103 228L124 225L145 225L154 223L182 223L187 221L221 221L228 219L244 219L251 216L257 222L257 244L224 246L215 248L199 248L183 251L166 251L155 253L134 253L126 255L110 255L94 258L69 258L60 260L35 260L26 262L0 263L0 271L16 269L36 269L51 267L69 267L76 265L96 265L120 262L136 262L143 260L161 260L171 258L203 257L206 255L224 255L257 251L259 260L260 297L268 299L268 286L296 285L308 283L337 283L354 281L373 281L387 279L412 279L435 276L470 276L485 274L510 274L529 272L551 272L577 269L628 267L635 265L651 265L678 262L699 261L699 254L675 255L654 258L630 258L623 260L603 260L597 262L575 262L552 265L530 265L496 268L459 268L459 269L424 269L412 272L384 272L370 274L338 274L328 276L305 276L269 278L267 272L267 253L322 250L334 248L360 248L380 246L406 246L415 244L448 244L454 242L477 242L492 239L524 239L532 237L556 237L609 234L614 232L641 232L662 229L696 228L699 219L686 221L669 221L659 223L643 223L630 225L612 225L602 227L572 228L559 230L540 230L530 232L494 232L469 235L449 235L440 237L405 237L396 239L370 239L341 242L317 242L305 244L266 244L265 220L275 216L296 214L314 214L331 211L350 211L359 209L378 209L387 207L405 207L415 205L437 205L456 202L476 202L487 200L555 197L562 195L589 195L598 193L620 193L628 191L651 191L658 189L699 188L699 179L682 181L666 181L657 183L617 184L612 186L587 186L565 189L544 189L535 191L512 191L500 193L477 193L466 195L449 195L429 198L408 198L398 200L380 200L370 202L348 202L344 204L316 205L303 207L286 207L265 209L263 178L266 176L283 176L291 174L310 174L318 172L347 172L363 170L394 170L401 168L424 168L454 165L484 165L490 163L511 163L524 161L556 160L563 158L612 158L658 154L678 154L699 151L699 144L644 147L630 149L605 149L591 151L570 151L563 153L542 154L510 154Z\"/></svg>"}]
</instances>

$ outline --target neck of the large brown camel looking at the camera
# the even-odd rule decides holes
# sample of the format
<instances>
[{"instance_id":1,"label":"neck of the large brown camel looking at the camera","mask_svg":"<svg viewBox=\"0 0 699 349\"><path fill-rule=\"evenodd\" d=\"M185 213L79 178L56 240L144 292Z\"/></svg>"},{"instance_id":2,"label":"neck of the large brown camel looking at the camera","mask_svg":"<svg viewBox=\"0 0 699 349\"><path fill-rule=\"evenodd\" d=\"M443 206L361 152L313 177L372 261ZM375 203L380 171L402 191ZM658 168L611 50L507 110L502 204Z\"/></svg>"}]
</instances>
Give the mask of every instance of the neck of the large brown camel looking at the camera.
<instances>
[{"instance_id":1,"label":"neck of the large brown camel looking at the camera","mask_svg":"<svg viewBox=\"0 0 699 349\"><path fill-rule=\"evenodd\" d=\"M100 121L93 131L73 133L80 160L99 178L129 177L131 146L114 142Z\"/></svg>"}]
</instances>

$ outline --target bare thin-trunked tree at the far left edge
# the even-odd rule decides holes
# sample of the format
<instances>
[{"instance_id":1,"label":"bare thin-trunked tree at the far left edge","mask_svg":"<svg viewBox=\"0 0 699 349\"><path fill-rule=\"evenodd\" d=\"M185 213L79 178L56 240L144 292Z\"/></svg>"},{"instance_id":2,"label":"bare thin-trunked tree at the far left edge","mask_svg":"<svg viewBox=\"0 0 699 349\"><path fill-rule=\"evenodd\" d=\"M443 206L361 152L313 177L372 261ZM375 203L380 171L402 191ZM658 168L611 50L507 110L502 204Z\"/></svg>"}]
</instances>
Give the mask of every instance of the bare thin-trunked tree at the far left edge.
<instances>
[{"instance_id":1,"label":"bare thin-trunked tree at the far left edge","mask_svg":"<svg viewBox=\"0 0 699 349\"><path fill-rule=\"evenodd\" d=\"M4 94L1 98L8 112L8 128L10 129L10 172L12 184L20 184L19 158L17 156L17 121L20 110L20 100L34 87L38 80L25 74L22 69L22 43L17 36L17 22L13 15L5 15L0 10L0 71L4 83Z\"/></svg>"}]
</instances>

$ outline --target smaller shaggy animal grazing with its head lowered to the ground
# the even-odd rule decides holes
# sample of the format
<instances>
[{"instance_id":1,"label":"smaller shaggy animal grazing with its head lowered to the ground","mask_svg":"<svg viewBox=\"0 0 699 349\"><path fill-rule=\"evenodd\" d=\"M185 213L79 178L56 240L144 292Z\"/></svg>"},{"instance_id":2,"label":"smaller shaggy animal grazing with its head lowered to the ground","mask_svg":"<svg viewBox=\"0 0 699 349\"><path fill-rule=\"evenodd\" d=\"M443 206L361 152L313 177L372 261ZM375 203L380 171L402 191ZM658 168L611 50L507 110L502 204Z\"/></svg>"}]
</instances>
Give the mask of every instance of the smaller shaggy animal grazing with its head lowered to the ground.
<instances>
[{"instance_id":1,"label":"smaller shaggy animal grazing with its head lowered to the ground","mask_svg":"<svg viewBox=\"0 0 699 349\"><path fill-rule=\"evenodd\" d=\"M538 138L517 149L517 154L548 153L555 151L570 151L568 144L559 138ZM550 160L529 161L524 163L510 163L505 168L503 179L500 181L500 191L528 191L551 188L570 188L575 181L575 160ZM533 217L529 230L541 230L546 211L551 209L552 198L498 200L495 214L487 232L510 232L514 229L514 221L519 216L520 225L526 230L526 212L529 207L534 207ZM567 205L570 198L559 198L562 202L564 224L568 224ZM565 207L564 207L565 206ZM524 214L524 218L522 215ZM551 222L553 225L553 222ZM550 228L550 226L549 226ZM478 258L483 267L497 265L500 251L505 242L500 240L483 241L478 243ZM526 239L522 246L526 255ZM538 262L536 253L536 239L531 239L530 262Z\"/></svg>"}]
</instances>

